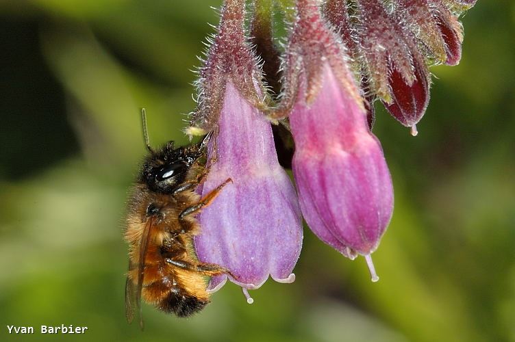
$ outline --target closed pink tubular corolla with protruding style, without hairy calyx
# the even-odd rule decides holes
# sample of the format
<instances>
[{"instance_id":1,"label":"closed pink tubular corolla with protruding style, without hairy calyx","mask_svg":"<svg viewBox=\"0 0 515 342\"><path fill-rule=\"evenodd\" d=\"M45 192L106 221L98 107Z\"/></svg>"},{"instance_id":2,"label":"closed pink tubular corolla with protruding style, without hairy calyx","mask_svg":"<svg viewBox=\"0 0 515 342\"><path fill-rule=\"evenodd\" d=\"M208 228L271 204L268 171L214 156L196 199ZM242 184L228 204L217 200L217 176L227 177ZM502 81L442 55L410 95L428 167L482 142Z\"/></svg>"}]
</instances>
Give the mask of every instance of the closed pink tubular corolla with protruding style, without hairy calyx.
<instances>
[{"instance_id":1,"label":"closed pink tubular corolla with protruding style, without hairy calyx","mask_svg":"<svg viewBox=\"0 0 515 342\"><path fill-rule=\"evenodd\" d=\"M302 94L302 93L301 93ZM290 114L294 178L312 231L346 257L375 251L393 210L390 172L366 113L328 64L311 105L302 97Z\"/></svg>"}]
</instances>

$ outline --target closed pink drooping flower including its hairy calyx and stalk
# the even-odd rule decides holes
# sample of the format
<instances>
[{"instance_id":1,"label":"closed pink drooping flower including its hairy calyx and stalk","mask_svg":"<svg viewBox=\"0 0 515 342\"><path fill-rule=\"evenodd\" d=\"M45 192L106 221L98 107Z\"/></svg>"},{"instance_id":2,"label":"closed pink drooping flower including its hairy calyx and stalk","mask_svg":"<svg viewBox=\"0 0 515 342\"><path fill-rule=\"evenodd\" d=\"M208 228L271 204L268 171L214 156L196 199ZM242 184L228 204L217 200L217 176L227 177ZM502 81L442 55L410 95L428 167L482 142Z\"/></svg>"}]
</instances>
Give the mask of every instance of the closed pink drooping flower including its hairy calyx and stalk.
<instances>
[{"instance_id":1,"label":"closed pink drooping flower including its hairy calyx and stalk","mask_svg":"<svg viewBox=\"0 0 515 342\"><path fill-rule=\"evenodd\" d=\"M283 102L271 116L289 114L294 179L308 226L344 256L364 255L377 280L370 254L392 215L388 166L368 129L344 47L323 20L318 1L299 0L297 9Z\"/></svg>"}]
</instances>

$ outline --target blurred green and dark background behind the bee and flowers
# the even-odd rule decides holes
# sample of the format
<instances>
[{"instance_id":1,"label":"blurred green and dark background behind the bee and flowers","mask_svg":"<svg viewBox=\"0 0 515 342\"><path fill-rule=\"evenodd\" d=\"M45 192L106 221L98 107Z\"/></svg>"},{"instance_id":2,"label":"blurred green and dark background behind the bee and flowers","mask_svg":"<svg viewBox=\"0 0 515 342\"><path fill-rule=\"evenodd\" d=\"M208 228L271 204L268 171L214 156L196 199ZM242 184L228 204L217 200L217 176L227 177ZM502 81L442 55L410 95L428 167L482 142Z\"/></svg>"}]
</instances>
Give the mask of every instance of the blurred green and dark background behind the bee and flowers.
<instances>
[{"instance_id":1,"label":"blurred green and dark background behind the bee and flowers","mask_svg":"<svg viewBox=\"0 0 515 342\"><path fill-rule=\"evenodd\" d=\"M306 229L292 285L266 282L249 305L229 284L190 319L145 305L145 332L127 324L139 108L154 145L187 142L189 69L220 2L0 1L0 341L515 341L512 0L464 16L462 62L431 69L418 137L379 110L395 187L379 282Z\"/></svg>"}]
</instances>

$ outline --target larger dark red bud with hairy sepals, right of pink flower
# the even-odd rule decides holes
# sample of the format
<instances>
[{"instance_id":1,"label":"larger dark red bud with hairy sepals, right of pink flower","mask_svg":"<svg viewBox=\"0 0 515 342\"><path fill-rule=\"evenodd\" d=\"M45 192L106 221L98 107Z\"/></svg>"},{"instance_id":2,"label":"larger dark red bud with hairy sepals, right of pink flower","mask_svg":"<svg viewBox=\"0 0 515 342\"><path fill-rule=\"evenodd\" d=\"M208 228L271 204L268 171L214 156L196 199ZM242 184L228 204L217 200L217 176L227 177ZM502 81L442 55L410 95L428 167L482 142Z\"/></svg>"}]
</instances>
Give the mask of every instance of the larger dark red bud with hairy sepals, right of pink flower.
<instances>
[{"instance_id":1,"label":"larger dark red bud with hairy sepals, right of pink flower","mask_svg":"<svg viewBox=\"0 0 515 342\"><path fill-rule=\"evenodd\" d=\"M412 127L429 103L430 75L414 36L378 0L359 0L360 40L370 86L401 124Z\"/></svg>"}]
</instances>

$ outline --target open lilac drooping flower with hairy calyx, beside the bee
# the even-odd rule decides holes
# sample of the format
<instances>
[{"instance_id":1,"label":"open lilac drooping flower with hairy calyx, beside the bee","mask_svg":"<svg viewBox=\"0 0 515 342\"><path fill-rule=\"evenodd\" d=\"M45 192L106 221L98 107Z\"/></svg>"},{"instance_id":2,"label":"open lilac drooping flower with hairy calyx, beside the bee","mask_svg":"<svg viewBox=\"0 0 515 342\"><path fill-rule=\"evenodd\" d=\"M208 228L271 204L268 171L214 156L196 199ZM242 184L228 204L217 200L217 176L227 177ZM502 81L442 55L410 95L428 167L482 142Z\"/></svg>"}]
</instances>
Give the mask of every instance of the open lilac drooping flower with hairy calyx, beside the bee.
<instances>
[{"instance_id":1,"label":"open lilac drooping flower with hairy calyx, beside the bee","mask_svg":"<svg viewBox=\"0 0 515 342\"><path fill-rule=\"evenodd\" d=\"M229 269L229 280L242 287L250 303L247 290L260 287L268 276L294 280L303 235L297 195L277 161L271 124L260 111L266 90L244 35L244 3L225 1L201 68L201 101L188 131L214 131L208 149L213 162L202 194L231 179L200 215L199 260ZM208 289L216 291L226 280L216 276Z\"/></svg>"}]
</instances>

